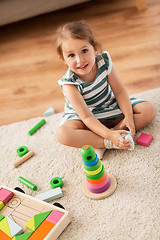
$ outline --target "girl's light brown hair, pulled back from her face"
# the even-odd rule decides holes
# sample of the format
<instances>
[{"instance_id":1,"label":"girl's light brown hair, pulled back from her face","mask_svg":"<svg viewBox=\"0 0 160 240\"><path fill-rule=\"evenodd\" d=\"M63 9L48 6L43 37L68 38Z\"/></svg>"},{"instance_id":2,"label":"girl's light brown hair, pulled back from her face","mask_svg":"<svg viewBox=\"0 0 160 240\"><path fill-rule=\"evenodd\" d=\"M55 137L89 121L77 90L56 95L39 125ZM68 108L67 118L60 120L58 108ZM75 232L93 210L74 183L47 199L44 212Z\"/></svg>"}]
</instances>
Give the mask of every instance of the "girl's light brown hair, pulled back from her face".
<instances>
[{"instance_id":1,"label":"girl's light brown hair, pulled back from her face","mask_svg":"<svg viewBox=\"0 0 160 240\"><path fill-rule=\"evenodd\" d=\"M70 22L60 26L57 29L57 52L63 56L62 42L63 39L82 39L87 40L94 48L102 50L102 46L96 41L92 31L87 23L84 21Z\"/></svg>"}]
</instances>

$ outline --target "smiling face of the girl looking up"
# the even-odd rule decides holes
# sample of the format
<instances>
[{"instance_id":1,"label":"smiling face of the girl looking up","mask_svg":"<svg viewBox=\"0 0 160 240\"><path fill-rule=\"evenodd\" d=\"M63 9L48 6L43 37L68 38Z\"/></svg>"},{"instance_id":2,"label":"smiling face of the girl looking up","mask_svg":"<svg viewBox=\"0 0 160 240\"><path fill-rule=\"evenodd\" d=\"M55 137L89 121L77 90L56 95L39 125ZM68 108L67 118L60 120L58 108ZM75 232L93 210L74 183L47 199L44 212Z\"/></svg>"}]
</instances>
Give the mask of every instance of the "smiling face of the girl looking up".
<instances>
[{"instance_id":1,"label":"smiling face of the girl looking up","mask_svg":"<svg viewBox=\"0 0 160 240\"><path fill-rule=\"evenodd\" d=\"M96 49L82 39L64 39L62 41L63 56L60 58L83 81L91 82L97 74L95 63Z\"/></svg>"}]
</instances>

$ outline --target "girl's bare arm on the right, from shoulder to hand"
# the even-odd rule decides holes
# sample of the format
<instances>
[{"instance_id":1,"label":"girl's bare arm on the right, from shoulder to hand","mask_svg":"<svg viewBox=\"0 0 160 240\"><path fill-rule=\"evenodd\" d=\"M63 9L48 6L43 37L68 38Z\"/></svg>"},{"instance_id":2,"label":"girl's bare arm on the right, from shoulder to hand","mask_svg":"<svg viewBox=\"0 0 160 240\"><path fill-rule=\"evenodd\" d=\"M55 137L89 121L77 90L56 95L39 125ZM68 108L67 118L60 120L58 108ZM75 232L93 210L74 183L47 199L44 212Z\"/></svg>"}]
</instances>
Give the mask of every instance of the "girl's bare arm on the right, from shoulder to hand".
<instances>
[{"instance_id":1,"label":"girl's bare arm on the right, from shoulder to hand","mask_svg":"<svg viewBox=\"0 0 160 240\"><path fill-rule=\"evenodd\" d=\"M124 114L124 119L121 124L121 129L123 129L124 127L127 127L131 131L132 137L134 137L135 124L133 119L133 110L132 110L131 101L120 77L118 76L118 73L114 65L112 67L112 71L110 75L108 76L108 82L112 88L112 91L115 95L118 105Z\"/></svg>"}]
</instances>

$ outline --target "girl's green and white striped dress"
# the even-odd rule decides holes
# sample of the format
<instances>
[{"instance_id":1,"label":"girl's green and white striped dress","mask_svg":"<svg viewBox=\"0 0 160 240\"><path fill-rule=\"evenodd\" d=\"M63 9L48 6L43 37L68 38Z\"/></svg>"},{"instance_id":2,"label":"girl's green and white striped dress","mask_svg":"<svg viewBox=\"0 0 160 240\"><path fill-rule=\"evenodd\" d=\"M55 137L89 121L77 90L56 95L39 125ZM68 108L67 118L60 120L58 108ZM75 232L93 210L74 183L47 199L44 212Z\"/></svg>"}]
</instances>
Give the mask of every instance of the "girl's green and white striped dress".
<instances>
[{"instance_id":1,"label":"girl's green and white striped dress","mask_svg":"<svg viewBox=\"0 0 160 240\"><path fill-rule=\"evenodd\" d=\"M91 83L86 83L80 79L70 68L66 74L58 81L63 91L64 84L73 84L80 91L88 108L99 119L114 119L123 116L112 89L108 83L108 75L112 70L112 60L108 52L102 52L95 57L97 65L96 79ZM62 125L68 120L81 120L74 111L63 91L66 103L61 121ZM132 107L143 100L130 98Z\"/></svg>"}]
</instances>

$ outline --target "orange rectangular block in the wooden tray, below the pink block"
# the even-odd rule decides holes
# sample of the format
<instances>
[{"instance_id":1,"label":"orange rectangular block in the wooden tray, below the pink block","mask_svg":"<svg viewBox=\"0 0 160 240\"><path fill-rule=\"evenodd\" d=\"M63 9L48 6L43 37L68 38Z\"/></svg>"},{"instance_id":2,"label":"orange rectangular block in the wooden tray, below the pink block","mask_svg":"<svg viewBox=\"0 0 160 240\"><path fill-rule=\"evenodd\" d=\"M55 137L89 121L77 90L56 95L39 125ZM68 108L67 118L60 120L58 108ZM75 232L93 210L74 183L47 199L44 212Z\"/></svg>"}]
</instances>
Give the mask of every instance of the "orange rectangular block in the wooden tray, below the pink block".
<instances>
[{"instance_id":1,"label":"orange rectangular block in the wooden tray, below the pink block","mask_svg":"<svg viewBox=\"0 0 160 240\"><path fill-rule=\"evenodd\" d=\"M44 220L28 240L43 240L54 226L54 223Z\"/></svg>"}]
</instances>

